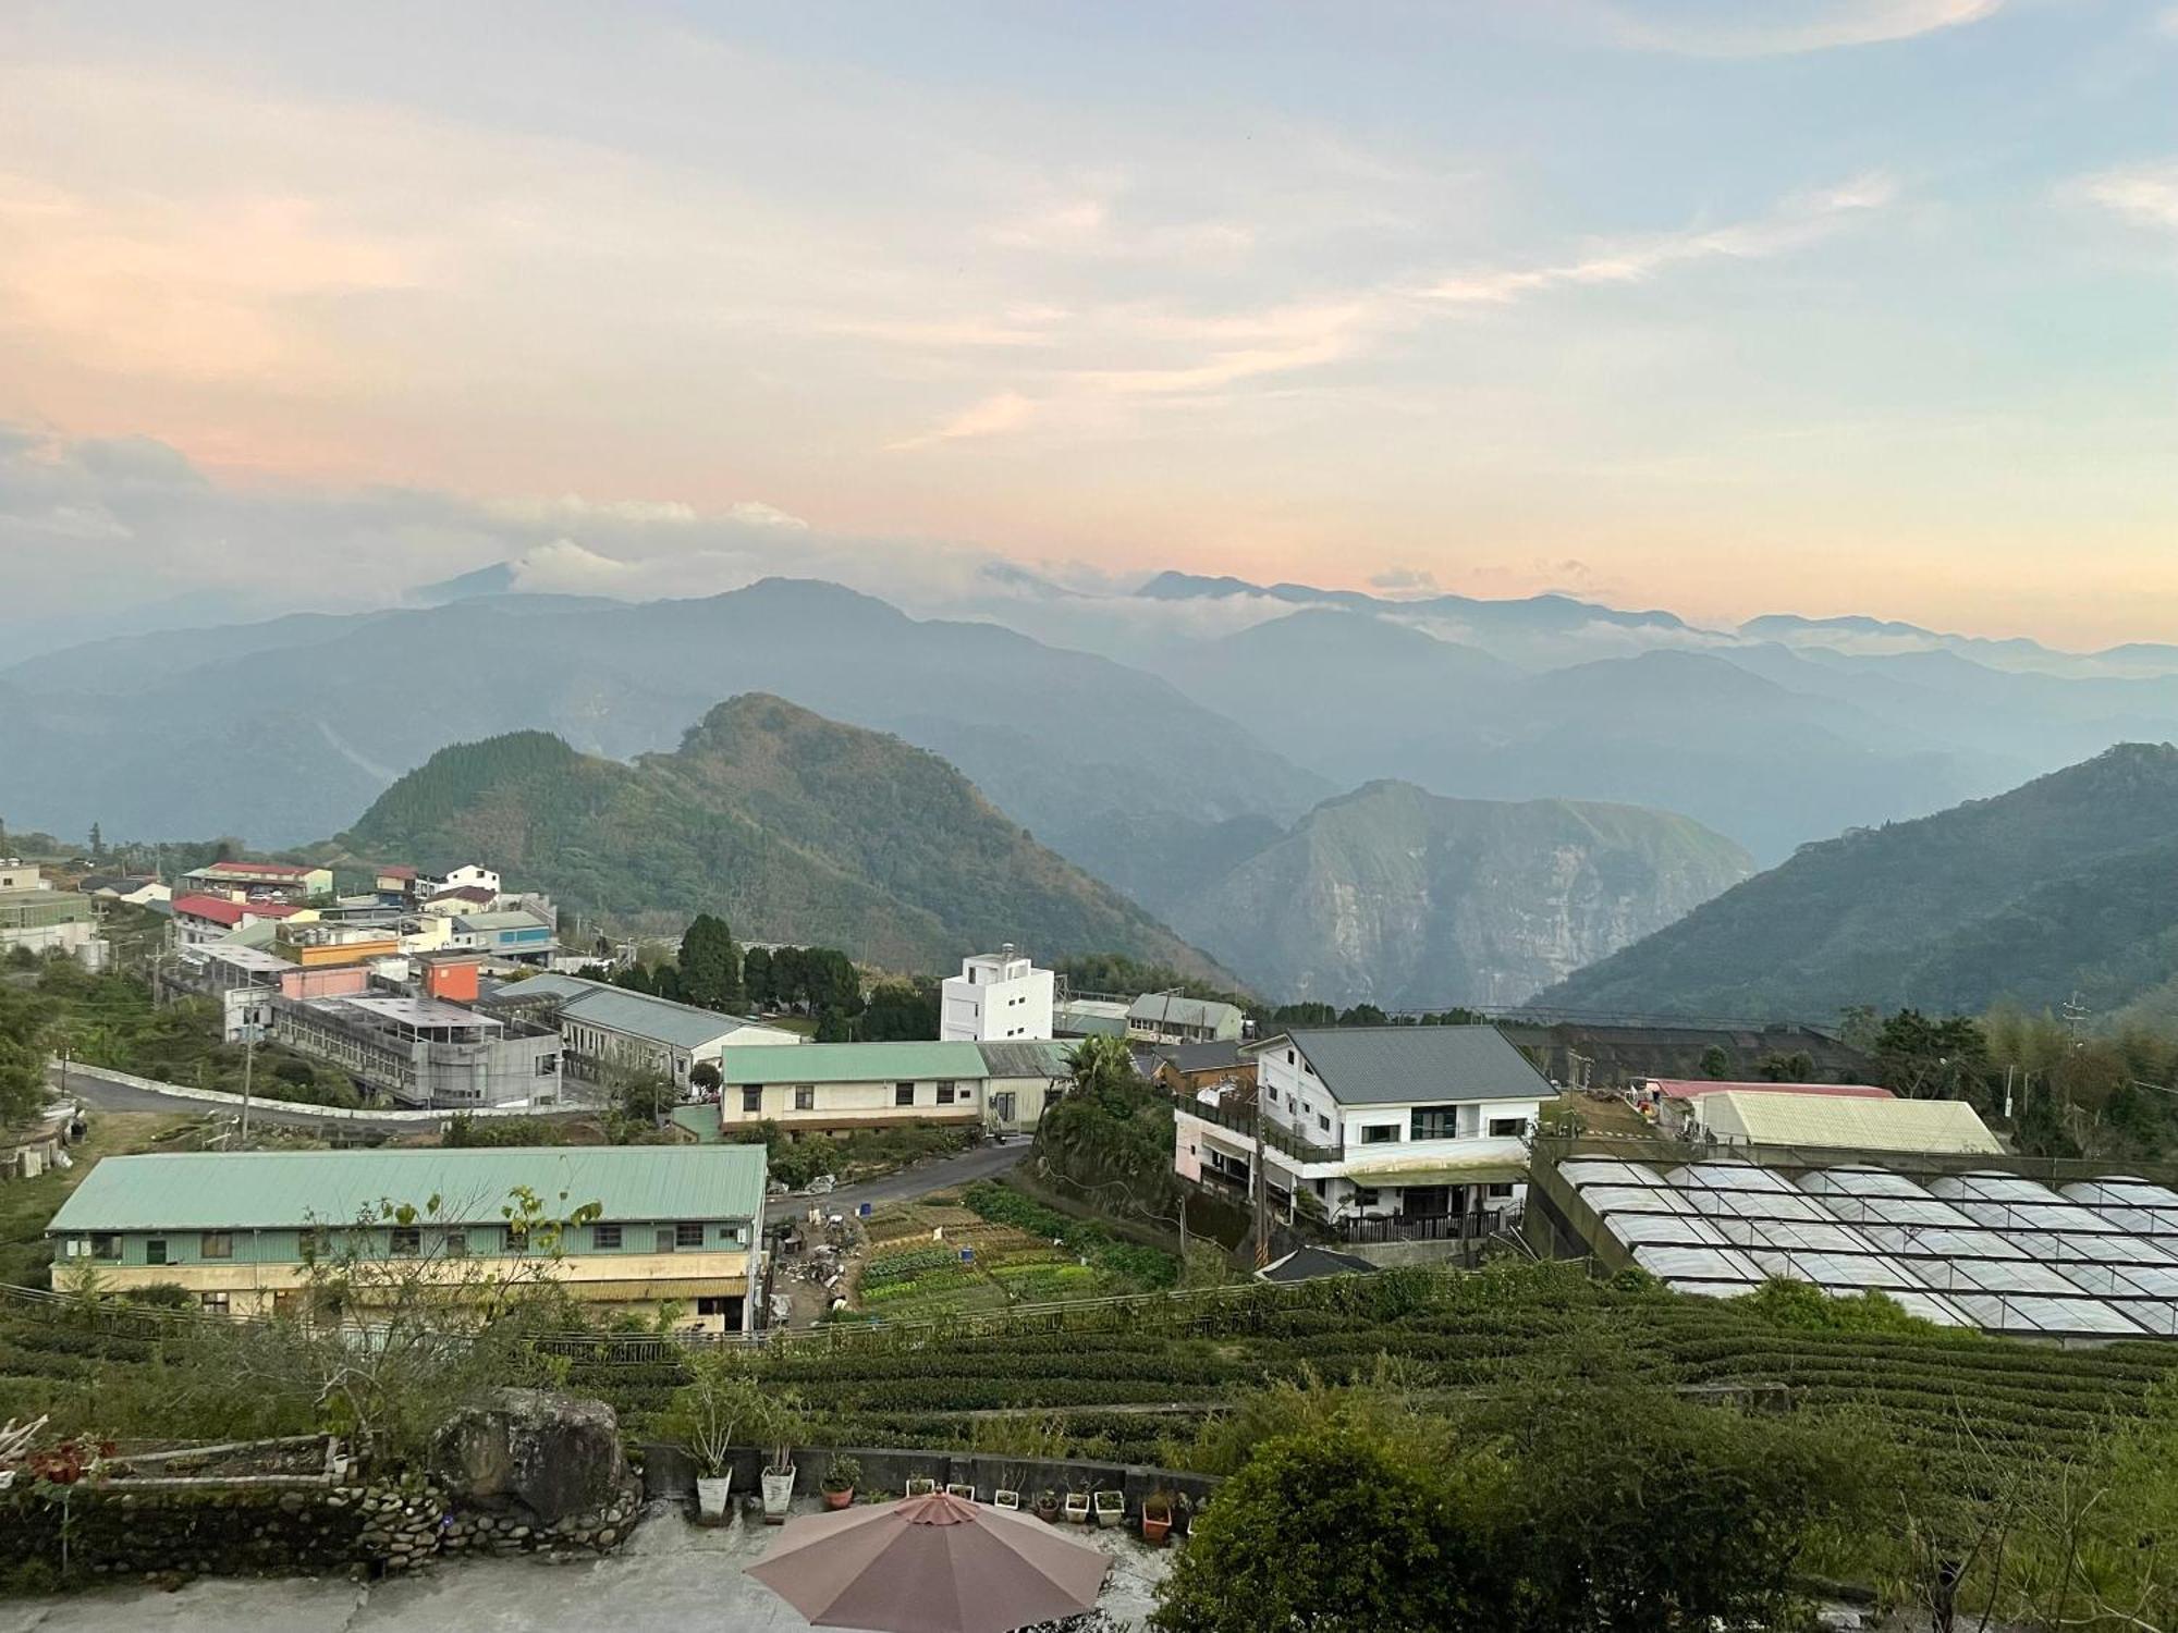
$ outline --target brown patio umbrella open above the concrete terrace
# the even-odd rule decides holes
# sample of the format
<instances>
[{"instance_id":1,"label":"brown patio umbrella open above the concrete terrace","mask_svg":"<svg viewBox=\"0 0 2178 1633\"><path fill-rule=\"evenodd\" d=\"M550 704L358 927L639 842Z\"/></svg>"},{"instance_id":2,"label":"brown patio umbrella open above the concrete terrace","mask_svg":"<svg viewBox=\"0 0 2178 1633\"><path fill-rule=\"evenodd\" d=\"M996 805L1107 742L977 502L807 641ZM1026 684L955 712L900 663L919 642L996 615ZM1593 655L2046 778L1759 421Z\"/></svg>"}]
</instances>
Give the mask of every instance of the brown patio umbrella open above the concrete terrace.
<instances>
[{"instance_id":1,"label":"brown patio umbrella open above the concrete terrace","mask_svg":"<svg viewBox=\"0 0 2178 1633\"><path fill-rule=\"evenodd\" d=\"M943 1491L788 1520L749 1574L817 1626L1006 1633L1096 1605L1111 1557Z\"/></svg>"}]
</instances>

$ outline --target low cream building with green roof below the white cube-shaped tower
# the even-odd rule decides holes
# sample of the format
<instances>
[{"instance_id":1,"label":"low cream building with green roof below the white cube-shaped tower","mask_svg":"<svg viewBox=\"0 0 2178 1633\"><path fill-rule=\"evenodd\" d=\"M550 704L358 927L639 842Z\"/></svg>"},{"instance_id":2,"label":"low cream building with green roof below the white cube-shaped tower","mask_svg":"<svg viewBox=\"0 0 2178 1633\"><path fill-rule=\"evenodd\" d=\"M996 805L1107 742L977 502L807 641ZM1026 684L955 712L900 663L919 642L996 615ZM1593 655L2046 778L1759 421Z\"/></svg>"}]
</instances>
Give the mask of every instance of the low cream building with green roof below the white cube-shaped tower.
<instances>
[{"instance_id":1,"label":"low cream building with green roof below the white cube-shaped tower","mask_svg":"<svg viewBox=\"0 0 2178 1633\"><path fill-rule=\"evenodd\" d=\"M904 1124L1015 1132L1035 1128L1069 1080L1065 1049L1037 1039L727 1049L721 1069L721 1128L778 1124L810 1134Z\"/></svg>"}]
</instances>

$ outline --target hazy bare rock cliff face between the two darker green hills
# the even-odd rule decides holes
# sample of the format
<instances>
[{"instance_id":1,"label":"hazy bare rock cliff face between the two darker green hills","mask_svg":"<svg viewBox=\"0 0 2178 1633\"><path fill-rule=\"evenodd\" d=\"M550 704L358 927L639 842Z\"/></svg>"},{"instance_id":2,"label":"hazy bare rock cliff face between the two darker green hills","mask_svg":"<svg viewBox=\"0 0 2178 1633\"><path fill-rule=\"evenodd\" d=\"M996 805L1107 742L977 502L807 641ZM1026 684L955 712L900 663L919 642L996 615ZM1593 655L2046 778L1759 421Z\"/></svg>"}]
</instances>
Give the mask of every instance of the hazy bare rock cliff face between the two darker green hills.
<instances>
[{"instance_id":1,"label":"hazy bare rock cliff face between the two darker green hills","mask_svg":"<svg viewBox=\"0 0 2178 1633\"><path fill-rule=\"evenodd\" d=\"M1671 812L1374 782L1318 806L1170 917L1281 997L1518 1004L1751 871L1738 845Z\"/></svg>"}]
</instances>

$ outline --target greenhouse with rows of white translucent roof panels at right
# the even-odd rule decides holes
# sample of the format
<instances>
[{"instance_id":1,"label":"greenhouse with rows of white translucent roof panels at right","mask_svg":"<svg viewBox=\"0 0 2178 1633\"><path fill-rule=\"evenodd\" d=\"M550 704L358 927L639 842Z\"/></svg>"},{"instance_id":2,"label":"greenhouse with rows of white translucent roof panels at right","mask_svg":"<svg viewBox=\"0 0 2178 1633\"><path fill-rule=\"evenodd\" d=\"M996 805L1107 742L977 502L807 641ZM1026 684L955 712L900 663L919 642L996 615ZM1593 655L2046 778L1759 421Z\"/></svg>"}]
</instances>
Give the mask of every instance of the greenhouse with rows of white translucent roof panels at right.
<instances>
[{"instance_id":1,"label":"greenhouse with rows of white translucent roof panels at right","mask_svg":"<svg viewBox=\"0 0 2178 1633\"><path fill-rule=\"evenodd\" d=\"M1788 1178L1753 1163L1577 1158L1559 1178L1631 1261L1732 1298L1786 1276L1888 1293L1943 1326L2178 1337L2178 1191L2134 1178L2049 1189L2017 1174L1882 1167Z\"/></svg>"}]
</instances>

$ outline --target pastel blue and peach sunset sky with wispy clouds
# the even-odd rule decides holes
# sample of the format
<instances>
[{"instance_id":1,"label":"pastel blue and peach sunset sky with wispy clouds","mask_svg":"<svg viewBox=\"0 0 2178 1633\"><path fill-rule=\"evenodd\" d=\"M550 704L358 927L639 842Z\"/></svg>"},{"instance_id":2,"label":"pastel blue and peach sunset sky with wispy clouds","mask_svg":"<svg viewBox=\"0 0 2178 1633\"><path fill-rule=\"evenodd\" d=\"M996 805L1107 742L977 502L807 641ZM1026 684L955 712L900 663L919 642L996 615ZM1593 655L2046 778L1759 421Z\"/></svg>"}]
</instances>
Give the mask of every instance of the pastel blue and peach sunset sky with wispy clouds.
<instances>
[{"instance_id":1,"label":"pastel blue and peach sunset sky with wispy clouds","mask_svg":"<svg viewBox=\"0 0 2178 1633\"><path fill-rule=\"evenodd\" d=\"M507 557L2169 640L2178 7L0 11L9 612Z\"/></svg>"}]
</instances>

